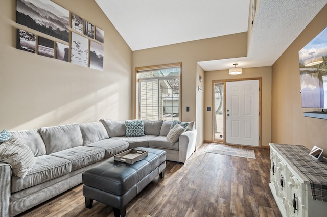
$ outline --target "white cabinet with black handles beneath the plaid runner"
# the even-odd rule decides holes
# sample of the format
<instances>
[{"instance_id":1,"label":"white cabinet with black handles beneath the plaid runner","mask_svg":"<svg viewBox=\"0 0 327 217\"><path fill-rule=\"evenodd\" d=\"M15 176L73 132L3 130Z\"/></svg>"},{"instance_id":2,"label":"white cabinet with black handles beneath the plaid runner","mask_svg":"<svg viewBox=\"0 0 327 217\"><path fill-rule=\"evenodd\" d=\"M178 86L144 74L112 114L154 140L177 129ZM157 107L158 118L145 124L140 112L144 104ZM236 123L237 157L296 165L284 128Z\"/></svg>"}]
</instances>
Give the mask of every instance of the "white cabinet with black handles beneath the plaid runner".
<instances>
[{"instance_id":1,"label":"white cabinet with black handles beneath the plaid runner","mask_svg":"<svg viewBox=\"0 0 327 217\"><path fill-rule=\"evenodd\" d=\"M269 187L283 216L327 216L327 202L313 200L311 185L285 153L270 143ZM308 149L308 154L309 154ZM312 159L314 160L314 159ZM327 171L326 171L327 173Z\"/></svg>"}]
</instances>

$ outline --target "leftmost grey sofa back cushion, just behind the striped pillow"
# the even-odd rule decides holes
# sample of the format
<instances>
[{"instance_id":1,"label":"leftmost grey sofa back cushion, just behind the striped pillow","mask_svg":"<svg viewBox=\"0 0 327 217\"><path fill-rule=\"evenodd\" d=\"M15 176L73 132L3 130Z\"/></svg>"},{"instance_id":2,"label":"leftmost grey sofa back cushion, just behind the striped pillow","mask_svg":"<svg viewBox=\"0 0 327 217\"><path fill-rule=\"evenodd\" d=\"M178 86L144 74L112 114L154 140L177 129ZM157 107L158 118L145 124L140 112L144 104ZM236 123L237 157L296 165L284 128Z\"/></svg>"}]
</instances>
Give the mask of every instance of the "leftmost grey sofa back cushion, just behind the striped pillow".
<instances>
[{"instance_id":1,"label":"leftmost grey sofa back cushion, just behind the striped pillow","mask_svg":"<svg viewBox=\"0 0 327 217\"><path fill-rule=\"evenodd\" d=\"M46 154L45 144L37 129L14 131L11 132L15 137L18 137L30 147L35 157Z\"/></svg>"}]
</instances>

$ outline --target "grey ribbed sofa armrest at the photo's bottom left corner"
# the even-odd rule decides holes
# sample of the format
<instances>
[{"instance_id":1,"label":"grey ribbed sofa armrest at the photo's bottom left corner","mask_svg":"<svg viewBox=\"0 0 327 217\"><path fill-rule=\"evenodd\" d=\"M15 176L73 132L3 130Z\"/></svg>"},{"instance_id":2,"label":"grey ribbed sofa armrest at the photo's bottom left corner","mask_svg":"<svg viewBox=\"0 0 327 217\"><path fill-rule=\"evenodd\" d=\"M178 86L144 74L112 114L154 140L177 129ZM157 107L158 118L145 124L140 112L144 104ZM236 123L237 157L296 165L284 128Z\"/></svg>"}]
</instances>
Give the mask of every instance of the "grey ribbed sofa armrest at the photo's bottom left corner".
<instances>
[{"instance_id":1,"label":"grey ribbed sofa armrest at the photo's bottom left corner","mask_svg":"<svg viewBox=\"0 0 327 217\"><path fill-rule=\"evenodd\" d=\"M11 165L0 162L0 216L9 216Z\"/></svg>"}]
</instances>

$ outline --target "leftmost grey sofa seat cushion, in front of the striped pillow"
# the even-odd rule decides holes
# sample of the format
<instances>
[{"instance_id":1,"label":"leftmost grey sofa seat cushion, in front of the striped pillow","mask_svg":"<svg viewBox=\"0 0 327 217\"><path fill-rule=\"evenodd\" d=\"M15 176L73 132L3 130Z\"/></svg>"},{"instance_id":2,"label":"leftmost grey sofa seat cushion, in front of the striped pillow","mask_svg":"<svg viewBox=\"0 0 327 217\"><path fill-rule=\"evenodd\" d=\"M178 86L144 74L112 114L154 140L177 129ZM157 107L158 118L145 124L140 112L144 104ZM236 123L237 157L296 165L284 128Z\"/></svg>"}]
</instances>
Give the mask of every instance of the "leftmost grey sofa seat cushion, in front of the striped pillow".
<instances>
[{"instance_id":1,"label":"leftmost grey sofa seat cushion, in front of the striped pillow","mask_svg":"<svg viewBox=\"0 0 327 217\"><path fill-rule=\"evenodd\" d=\"M35 157L35 165L24 178L12 177L11 191L18 192L69 172L71 172L71 162L69 160L51 155L38 156Z\"/></svg>"}]
</instances>

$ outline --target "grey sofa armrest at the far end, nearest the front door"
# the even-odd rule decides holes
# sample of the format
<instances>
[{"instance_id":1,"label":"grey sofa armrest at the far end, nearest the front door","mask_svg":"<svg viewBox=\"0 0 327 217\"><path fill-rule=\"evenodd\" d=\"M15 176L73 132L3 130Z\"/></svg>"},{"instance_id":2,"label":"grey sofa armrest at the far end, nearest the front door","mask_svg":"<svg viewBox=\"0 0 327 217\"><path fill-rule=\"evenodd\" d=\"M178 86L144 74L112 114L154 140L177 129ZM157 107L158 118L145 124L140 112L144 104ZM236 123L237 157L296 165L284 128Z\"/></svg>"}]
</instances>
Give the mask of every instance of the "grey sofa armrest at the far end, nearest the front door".
<instances>
[{"instance_id":1,"label":"grey sofa armrest at the far end, nearest the front door","mask_svg":"<svg viewBox=\"0 0 327 217\"><path fill-rule=\"evenodd\" d=\"M197 130L188 130L179 136L179 161L185 162L195 151Z\"/></svg>"}]
</instances>

